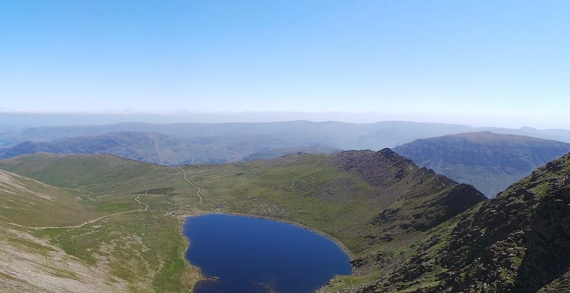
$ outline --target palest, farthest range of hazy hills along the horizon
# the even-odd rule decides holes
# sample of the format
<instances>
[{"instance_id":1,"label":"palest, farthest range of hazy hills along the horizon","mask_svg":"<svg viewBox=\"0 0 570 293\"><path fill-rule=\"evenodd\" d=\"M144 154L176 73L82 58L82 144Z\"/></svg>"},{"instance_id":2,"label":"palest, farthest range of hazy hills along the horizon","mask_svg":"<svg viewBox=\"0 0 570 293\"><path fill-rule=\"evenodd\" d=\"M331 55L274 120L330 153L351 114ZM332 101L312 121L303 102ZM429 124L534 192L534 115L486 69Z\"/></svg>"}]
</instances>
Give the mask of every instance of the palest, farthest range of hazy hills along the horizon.
<instances>
[{"instance_id":1,"label":"palest, farthest range of hazy hills along the horizon","mask_svg":"<svg viewBox=\"0 0 570 293\"><path fill-rule=\"evenodd\" d=\"M422 137L470 131L472 127L455 124L378 122L266 122L266 123L121 123L100 126L33 127L0 134L6 146L19 142L38 142L64 137L83 137L112 132L156 132L176 138L248 137L261 135L279 139L279 147L318 145L337 149L382 149L411 142ZM570 135L569 135L570 137Z\"/></svg>"}]
</instances>

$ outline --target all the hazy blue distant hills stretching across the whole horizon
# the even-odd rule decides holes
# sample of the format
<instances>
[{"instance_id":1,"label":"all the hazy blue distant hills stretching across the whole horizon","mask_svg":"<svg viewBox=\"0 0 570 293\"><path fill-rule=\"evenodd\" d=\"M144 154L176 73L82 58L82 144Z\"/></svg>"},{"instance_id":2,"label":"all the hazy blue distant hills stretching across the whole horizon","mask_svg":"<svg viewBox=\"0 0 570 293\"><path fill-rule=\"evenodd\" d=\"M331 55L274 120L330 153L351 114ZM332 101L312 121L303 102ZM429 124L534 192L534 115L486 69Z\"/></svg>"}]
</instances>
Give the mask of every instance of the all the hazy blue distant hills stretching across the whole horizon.
<instances>
[{"instance_id":1,"label":"all the hazy blue distant hills stretching across the whole horizon","mask_svg":"<svg viewBox=\"0 0 570 293\"><path fill-rule=\"evenodd\" d=\"M221 163L270 159L291 152L393 148L415 139L492 131L570 142L570 131L475 128L418 122L120 123L98 126L6 128L0 157L35 152L108 153L155 164ZM301 148L301 149L299 149Z\"/></svg>"}]
</instances>

